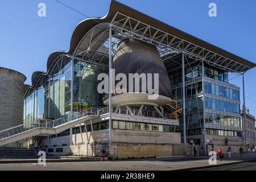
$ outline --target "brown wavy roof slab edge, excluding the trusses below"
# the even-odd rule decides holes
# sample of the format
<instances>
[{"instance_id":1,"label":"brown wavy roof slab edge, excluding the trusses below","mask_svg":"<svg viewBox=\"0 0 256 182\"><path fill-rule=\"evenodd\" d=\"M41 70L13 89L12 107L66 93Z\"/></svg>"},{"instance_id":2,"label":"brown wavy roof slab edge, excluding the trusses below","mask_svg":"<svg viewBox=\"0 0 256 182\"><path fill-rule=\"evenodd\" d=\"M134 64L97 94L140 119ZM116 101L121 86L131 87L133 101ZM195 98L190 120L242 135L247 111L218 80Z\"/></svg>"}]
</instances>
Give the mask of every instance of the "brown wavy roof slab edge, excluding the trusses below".
<instances>
[{"instance_id":1,"label":"brown wavy roof slab edge, excluding the trusses below","mask_svg":"<svg viewBox=\"0 0 256 182\"><path fill-rule=\"evenodd\" d=\"M72 55L72 53L76 50L77 46L79 46L81 39L84 37L86 32L88 32L92 27L96 26L99 23L109 22L115 15L115 13L122 13L125 15L129 15L131 18L137 19L140 22L143 22L145 24L153 25L154 27L161 27L162 31L168 32L177 38L184 39L185 41L189 43L194 43L196 45L199 45L200 47L203 47L205 49L208 49L210 51L216 52L219 55L228 57L228 59L237 61L238 63L241 63L243 65L246 65L249 67L249 69L255 67L255 63L248 61L246 59L243 59L242 57L239 57L237 55L234 55L233 53L230 53L228 51L225 51L224 49L221 49L219 47L213 46L210 43L205 42L204 40L201 40L199 38L196 38L195 36L189 35L183 31L178 30L175 27L172 27L166 23L160 22L159 20L156 20L146 14L143 14L137 10L131 9L130 7L123 5L122 3L119 3L117 1L111 1L108 13L101 17L94 17L94 18L88 18L85 20L82 20L80 23L77 24L75 29L73 30L72 36L71 36L71 42L70 42L70 48L68 51L53 51L47 60L47 71L35 71L32 73L32 85L30 87L35 86L36 81L39 79L42 75L47 75L47 73L51 72L52 65L54 65L56 58L60 55Z\"/></svg>"}]
</instances>

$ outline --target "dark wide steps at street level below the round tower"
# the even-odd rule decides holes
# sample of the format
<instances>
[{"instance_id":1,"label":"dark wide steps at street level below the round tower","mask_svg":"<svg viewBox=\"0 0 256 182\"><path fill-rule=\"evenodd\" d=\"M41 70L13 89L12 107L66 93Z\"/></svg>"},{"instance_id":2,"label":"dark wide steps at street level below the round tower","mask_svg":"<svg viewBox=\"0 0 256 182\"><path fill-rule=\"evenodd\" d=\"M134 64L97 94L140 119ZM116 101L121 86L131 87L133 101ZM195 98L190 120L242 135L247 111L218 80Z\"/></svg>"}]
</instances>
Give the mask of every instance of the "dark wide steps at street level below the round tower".
<instances>
[{"instance_id":1,"label":"dark wide steps at street level below the round tower","mask_svg":"<svg viewBox=\"0 0 256 182\"><path fill-rule=\"evenodd\" d=\"M0 159L36 159L36 151L28 148L0 148Z\"/></svg>"}]
</instances>

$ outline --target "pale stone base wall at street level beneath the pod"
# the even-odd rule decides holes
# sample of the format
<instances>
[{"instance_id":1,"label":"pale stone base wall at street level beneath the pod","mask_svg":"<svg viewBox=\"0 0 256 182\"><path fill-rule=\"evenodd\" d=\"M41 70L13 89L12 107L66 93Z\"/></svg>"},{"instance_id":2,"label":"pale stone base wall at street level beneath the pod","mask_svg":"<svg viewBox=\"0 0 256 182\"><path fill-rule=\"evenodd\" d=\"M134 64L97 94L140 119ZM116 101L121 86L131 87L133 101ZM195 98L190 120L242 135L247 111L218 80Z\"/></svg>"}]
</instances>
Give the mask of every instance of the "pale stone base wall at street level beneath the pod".
<instances>
[{"instance_id":1,"label":"pale stone base wall at street level beneath the pod","mask_svg":"<svg viewBox=\"0 0 256 182\"><path fill-rule=\"evenodd\" d=\"M49 143L44 139L41 147L48 155L100 156L102 148L109 151L110 156L118 156L118 158L184 155L184 146L180 144L180 133L112 130L112 144L108 148L108 131L88 132L88 139L86 133L74 134L72 146L69 135L51 138ZM175 154L173 144L175 144ZM46 146L53 148L54 152L48 153ZM63 148L63 152L56 152L56 148Z\"/></svg>"}]
</instances>

